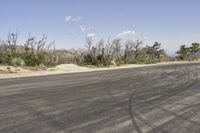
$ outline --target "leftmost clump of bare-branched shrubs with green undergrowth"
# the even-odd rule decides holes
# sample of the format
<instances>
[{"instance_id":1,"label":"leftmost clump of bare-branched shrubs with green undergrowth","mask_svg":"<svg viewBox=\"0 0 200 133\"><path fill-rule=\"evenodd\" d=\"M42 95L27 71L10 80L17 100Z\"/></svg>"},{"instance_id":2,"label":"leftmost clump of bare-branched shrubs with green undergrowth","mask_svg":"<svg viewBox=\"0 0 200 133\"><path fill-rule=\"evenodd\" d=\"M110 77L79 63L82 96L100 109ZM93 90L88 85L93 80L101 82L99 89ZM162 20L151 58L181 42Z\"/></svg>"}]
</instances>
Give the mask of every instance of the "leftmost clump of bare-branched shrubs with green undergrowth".
<instances>
[{"instance_id":1,"label":"leftmost clump of bare-branched shrubs with green undergrowth","mask_svg":"<svg viewBox=\"0 0 200 133\"><path fill-rule=\"evenodd\" d=\"M0 63L20 66L56 64L55 56L52 54L55 47L52 46L54 42L48 43L45 35L37 40L29 34L24 45L18 45L18 34L9 34L7 40L0 39Z\"/></svg>"}]
</instances>

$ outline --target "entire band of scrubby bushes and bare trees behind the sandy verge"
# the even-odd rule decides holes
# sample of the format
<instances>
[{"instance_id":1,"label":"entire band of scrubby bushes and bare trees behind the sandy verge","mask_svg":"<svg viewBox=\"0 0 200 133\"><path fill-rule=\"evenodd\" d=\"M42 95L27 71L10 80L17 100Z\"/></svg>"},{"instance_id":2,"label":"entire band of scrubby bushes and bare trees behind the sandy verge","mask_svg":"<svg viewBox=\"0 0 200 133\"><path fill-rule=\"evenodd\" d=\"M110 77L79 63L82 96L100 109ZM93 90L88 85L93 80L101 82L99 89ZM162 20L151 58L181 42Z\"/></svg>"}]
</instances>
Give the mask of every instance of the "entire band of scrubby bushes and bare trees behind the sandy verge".
<instances>
[{"instance_id":1,"label":"entire band of scrubby bushes and bare trees behind the sandy verge","mask_svg":"<svg viewBox=\"0 0 200 133\"><path fill-rule=\"evenodd\" d=\"M172 60L198 60L200 44L181 45L177 57L170 57L161 48L161 43L151 46L141 40L100 39L87 37L85 50L68 51L56 49L55 42L48 42L46 35L40 39L29 34L23 44L18 42L18 34L9 34L0 39L0 64L13 66L55 66L73 63L99 67L121 64L151 64Z\"/></svg>"}]
</instances>

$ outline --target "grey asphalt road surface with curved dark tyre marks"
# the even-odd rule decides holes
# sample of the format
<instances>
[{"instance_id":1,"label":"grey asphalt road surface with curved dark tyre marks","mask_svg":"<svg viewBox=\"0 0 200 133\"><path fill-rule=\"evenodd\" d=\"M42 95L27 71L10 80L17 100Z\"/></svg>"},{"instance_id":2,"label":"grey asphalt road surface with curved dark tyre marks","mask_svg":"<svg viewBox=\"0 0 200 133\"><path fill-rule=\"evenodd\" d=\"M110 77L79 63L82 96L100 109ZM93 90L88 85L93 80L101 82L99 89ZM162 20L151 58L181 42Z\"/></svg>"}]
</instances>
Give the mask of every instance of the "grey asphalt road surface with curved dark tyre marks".
<instances>
[{"instance_id":1,"label":"grey asphalt road surface with curved dark tyre marks","mask_svg":"<svg viewBox=\"0 0 200 133\"><path fill-rule=\"evenodd\" d=\"M0 133L199 133L200 64L0 79Z\"/></svg>"}]
</instances>

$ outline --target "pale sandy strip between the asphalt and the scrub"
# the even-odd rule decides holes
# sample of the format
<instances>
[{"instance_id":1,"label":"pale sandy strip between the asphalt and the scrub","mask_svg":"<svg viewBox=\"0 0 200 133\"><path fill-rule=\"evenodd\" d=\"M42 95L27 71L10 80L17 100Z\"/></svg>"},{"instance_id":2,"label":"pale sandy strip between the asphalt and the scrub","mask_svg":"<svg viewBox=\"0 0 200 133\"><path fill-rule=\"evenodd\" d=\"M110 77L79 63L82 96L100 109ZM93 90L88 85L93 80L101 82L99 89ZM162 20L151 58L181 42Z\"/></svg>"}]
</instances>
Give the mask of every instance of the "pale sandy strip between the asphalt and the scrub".
<instances>
[{"instance_id":1,"label":"pale sandy strip between the asphalt and the scrub","mask_svg":"<svg viewBox=\"0 0 200 133\"><path fill-rule=\"evenodd\" d=\"M122 66L110 66L110 67L85 67L78 66L75 64L61 64L56 67L42 69L29 69L14 66L0 66L0 79L2 78L17 78L17 77L29 77L29 76L40 76L40 75L51 75L51 74L62 74L62 73L77 73L77 72L91 72L91 71L103 71L103 70L114 70L124 68L135 68L135 67L146 67L155 65L168 65L168 64L188 64L188 63L199 63L200 61L174 61L174 62L162 62L157 64L130 64Z\"/></svg>"}]
</instances>

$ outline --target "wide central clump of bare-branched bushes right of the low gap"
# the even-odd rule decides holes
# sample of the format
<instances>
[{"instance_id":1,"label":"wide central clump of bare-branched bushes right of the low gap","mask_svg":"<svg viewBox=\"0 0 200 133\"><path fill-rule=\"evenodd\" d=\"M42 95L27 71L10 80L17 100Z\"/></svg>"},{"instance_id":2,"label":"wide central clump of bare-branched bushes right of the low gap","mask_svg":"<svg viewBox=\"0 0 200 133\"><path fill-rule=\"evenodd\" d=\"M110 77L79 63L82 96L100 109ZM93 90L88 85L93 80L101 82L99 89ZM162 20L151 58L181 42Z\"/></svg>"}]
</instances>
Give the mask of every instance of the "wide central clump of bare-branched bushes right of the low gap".
<instances>
[{"instance_id":1,"label":"wide central clump of bare-branched bushes right of the low gap","mask_svg":"<svg viewBox=\"0 0 200 133\"><path fill-rule=\"evenodd\" d=\"M153 46L142 47L140 40L123 41L121 39L108 38L95 42L92 38L86 38L87 52L84 55L84 63L97 66L133 64L133 63L156 63L168 61L161 44L155 42Z\"/></svg>"}]
</instances>

